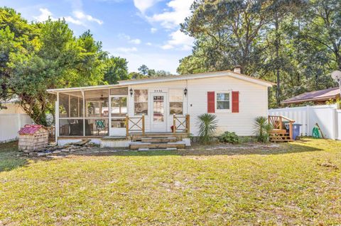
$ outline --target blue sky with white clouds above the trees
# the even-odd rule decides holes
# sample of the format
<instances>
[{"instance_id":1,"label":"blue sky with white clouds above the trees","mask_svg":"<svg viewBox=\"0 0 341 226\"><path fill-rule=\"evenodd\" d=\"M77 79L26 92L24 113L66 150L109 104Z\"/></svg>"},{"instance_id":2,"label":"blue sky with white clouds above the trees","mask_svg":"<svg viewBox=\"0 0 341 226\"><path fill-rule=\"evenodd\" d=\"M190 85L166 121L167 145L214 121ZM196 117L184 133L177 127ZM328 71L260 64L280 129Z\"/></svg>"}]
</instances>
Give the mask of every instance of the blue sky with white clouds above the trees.
<instances>
[{"instance_id":1,"label":"blue sky with white clouds above the trees","mask_svg":"<svg viewBox=\"0 0 341 226\"><path fill-rule=\"evenodd\" d=\"M129 72L141 64L175 74L193 39L179 30L193 0L0 0L28 21L65 18L75 35L90 29L103 49L126 58Z\"/></svg>"}]
</instances>

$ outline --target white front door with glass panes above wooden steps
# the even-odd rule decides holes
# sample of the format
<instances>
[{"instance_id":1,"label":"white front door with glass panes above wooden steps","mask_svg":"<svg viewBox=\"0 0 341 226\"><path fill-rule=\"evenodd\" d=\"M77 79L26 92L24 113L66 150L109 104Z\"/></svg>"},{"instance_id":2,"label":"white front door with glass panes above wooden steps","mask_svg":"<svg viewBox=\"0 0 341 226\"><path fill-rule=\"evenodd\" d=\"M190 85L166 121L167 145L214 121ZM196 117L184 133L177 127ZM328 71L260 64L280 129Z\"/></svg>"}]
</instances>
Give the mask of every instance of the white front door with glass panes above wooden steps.
<instances>
[{"instance_id":1,"label":"white front door with glass panes above wooden steps","mask_svg":"<svg viewBox=\"0 0 341 226\"><path fill-rule=\"evenodd\" d=\"M151 131L166 132L166 94L151 94Z\"/></svg>"}]
</instances>

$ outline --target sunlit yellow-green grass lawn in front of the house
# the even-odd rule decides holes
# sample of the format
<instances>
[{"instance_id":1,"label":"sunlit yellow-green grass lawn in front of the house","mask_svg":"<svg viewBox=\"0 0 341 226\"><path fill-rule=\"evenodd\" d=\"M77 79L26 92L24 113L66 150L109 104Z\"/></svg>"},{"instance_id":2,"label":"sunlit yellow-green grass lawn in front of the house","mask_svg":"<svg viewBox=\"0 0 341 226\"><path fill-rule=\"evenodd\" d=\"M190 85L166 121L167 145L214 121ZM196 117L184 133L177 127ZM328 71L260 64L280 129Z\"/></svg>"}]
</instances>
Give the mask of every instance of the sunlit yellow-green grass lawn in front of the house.
<instances>
[{"instance_id":1,"label":"sunlit yellow-green grass lawn in front of the house","mask_svg":"<svg viewBox=\"0 0 341 226\"><path fill-rule=\"evenodd\" d=\"M0 225L341 224L341 142L243 147L48 160L0 145Z\"/></svg>"}]
</instances>

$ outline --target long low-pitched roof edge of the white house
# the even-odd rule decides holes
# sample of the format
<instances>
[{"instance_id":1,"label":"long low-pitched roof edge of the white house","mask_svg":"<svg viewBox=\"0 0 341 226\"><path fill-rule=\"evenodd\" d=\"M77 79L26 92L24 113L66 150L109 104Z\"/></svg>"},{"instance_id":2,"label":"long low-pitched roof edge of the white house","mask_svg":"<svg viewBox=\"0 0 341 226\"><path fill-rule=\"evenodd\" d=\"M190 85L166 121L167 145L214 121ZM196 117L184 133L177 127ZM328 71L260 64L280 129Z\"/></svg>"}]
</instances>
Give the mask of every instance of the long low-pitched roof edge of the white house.
<instances>
[{"instance_id":1,"label":"long low-pitched roof edge of the white house","mask_svg":"<svg viewBox=\"0 0 341 226\"><path fill-rule=\"evenodd\" d=\"M104 86L85 86L85 87L75 87L75 88L65 88L65 89L48 89L49 93L55 94L60 91L77 91L77 90L87 90L87 89L106 89L119 86L128 86L135 84L150 84L156 82L167 82L167 81L181 81L181 80L191 80L191 79L206 79L210 77L224 77L229 76L236 79L241 79L244 81L249 81L254 84L259 84L262 86L274 86L275 84L263 79L258 79L256 77L251 77L245 74L239 74L232 71L221 71L221 72L205 72L198 74L183 74L183 75L171 75L168 77L156 77L156 78L144 78L144 79L129 79L119 81L119 84L114 85L104 85Z\"/></svg>"}]
</instances>

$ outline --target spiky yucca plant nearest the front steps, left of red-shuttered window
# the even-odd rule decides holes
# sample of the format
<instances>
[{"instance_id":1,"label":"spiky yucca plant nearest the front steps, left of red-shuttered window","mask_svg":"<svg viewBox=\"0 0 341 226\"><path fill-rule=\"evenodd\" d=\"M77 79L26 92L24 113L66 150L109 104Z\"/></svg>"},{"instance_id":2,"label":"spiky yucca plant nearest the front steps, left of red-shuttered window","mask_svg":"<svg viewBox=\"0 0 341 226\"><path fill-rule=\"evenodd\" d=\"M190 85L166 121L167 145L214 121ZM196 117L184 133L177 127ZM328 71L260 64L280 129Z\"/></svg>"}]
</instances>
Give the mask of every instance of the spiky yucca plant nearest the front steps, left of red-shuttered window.
<instances>
[{"instance_id":1,"label":"spiky yucca plant nearest the front steps, left of red-shuttered window","mask_svg":"<svg viewBox=\"0 0 341 226\"><path fill-rule=\"evenodd\" d=\"M217 130L217 115L204 113L197 116L199 122L199 140L202 144L208 144L212 141L215 130Z\"/></svg>"}]
</instances>

